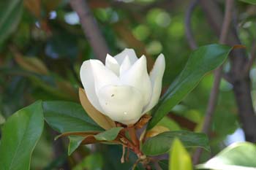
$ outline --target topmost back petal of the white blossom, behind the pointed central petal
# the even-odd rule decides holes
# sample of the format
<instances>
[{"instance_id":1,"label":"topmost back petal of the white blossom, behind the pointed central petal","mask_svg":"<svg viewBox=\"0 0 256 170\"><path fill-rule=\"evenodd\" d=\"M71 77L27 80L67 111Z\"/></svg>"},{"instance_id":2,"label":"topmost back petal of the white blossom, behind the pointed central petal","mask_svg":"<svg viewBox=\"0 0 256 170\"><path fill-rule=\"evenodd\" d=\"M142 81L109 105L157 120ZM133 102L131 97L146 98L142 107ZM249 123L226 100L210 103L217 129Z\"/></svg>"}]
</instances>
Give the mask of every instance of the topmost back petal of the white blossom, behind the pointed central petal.
<instances>
[{"instance_id":1,"label":"topmost back petal of the white blossom, behind the pointed central petal","mask_svg":"<svg viewBox=\"0 0 256 170\"><path fill-rule=\"evenodd\" d=\"M124 58L127 55L129 56L129 61L131 61L132 64L138 61L138 57L136 56L135 50L131 48L124 49L121 53L115 55L114 58L116 58L116 61L121 65L121 63L123 63Z\"/></svg>"}]
</instances>

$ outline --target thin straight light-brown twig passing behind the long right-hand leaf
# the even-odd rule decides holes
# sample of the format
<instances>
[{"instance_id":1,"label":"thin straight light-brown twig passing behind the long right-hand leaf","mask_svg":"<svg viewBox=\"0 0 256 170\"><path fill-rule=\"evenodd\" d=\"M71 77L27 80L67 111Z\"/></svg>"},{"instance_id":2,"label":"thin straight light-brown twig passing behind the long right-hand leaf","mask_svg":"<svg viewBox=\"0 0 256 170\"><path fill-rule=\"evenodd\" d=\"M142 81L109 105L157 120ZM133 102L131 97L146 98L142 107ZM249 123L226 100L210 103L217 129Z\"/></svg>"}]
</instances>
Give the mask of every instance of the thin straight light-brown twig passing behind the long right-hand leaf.
<instances>
[{"instance_id":1,"label":"thin straight light-brown twig passing behind the long right-hand leaf","mask_svg":"<svg viewBox=\"0 0 256 170\"><path fill-rule=\"evenodd\" d=\"M219 43L224 44L227 39L228 30L230 27L230 23L232 20L232 8L233 8L233 0L226 0L225 3L225 17L222 24L222 31L219 36ZM214 73L214 86L211 89L211 94L208 101L208 107L206 109L206 115L203 122L203 133L208 134L209 129L211 127L211 120L214 115L214 110L217 105L217 98L219 95L219 85L222 78L222 66L219 66L219 68ZM200 155L202 153L201 149L197 149L195 151L195 155L193 156L193 162L197 164L200 160Z\"/></svg>"}]
</instances>

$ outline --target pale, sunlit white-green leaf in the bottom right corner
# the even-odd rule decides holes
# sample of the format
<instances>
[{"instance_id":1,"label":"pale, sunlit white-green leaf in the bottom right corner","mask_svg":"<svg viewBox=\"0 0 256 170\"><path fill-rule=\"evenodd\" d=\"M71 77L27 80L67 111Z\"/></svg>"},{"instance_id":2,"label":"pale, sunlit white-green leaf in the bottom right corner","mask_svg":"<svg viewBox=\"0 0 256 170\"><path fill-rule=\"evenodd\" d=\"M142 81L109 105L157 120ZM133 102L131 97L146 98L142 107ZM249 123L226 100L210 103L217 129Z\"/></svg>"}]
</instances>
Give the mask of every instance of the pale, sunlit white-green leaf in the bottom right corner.
<instances>
[{"instance_id":1,"label":"pale, sunlit white-green leaf in the bottom right corner","mask_svg":"<svg viewBox=\"0 0 256 170\"><path fill-rule=\"evenodd\" d=\"M255 170L256 145L249 142L231 144L197 169Z\"/></svg>"}]
</instances>

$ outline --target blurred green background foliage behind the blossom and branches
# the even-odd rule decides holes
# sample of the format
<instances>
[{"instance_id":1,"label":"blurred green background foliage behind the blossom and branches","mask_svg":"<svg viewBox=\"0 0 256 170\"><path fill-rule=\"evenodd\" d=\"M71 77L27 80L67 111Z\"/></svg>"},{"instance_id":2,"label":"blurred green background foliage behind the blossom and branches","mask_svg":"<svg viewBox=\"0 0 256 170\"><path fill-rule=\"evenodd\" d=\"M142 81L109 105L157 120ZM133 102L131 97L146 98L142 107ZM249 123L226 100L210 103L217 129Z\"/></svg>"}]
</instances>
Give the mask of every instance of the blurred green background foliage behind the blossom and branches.
<instances>
[{"instance_id":1,"label":"blurred green background foliage behind the blossom and branches","mask_svg":"<svg viewBox=\"0 0 256 170\"><path fill-rule=\"evenodd\" d=\"M184 15L189 1L165 0L89 0L100 30L111 54L124 47L134 48L139 55L146 54L154 60L159 53L166 58L163 80L165 89L189 58L184 33ZM219 1L223 6L223 1ZM256 7L236 2L238 32L248 53L256 38ZM208 26L206 16L198 6L192 15L192 31L198 45L217 42L217 36ZM1 0L0 1L0 127L18 109L37 99L66 100L78 102L80 87L79 69L83 61L94 58L85 38L78 16L67 0ZM228 70L228 63L225 66ZM251 71L252 94L256 105L256 69ZM203 122L212 74L197 85L172 114L165 117L167 128L199 131ZM232 85L222 80L217 111L211 126L211 151L213 154L225 147L228 134L240 127ZM182 120L182 121L180 121ZM184 125L184 120L193 128ZM67 141L59 139L61 153L56 154L52 131L45 132L31 160L31 169L58 169L68 163L73 169L129 169L130 162L121 164L121 147L94 146L91 153L87 147L79 147L67 157ZM42 149L42 147L44 149ZM64 150L64 152L62 152ZM96 151L95 151L96 150ZM206 152L203 160L210 155ZM122 168L121 168L122 167Z\"/></svg>"}]
</instances>

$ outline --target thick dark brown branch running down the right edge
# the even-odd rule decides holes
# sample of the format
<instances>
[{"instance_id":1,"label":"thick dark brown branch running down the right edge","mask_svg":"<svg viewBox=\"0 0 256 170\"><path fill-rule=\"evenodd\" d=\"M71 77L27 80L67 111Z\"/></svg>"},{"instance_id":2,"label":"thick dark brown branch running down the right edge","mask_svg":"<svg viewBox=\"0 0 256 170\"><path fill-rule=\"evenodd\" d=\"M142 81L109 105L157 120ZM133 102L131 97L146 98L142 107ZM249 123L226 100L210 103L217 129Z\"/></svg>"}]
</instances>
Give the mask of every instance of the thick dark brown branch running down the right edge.
<instances>
[{"instance_id":1,"label":"thick dark brown branch running down the right edge","mask_svg":"<svg viewBox=\"0 0 256 170\"><path fill-rule=\"evenodd\" d=\"M215 1L200 0L200 4L215 32L220 32L218 23L222 22L222 13ZM236 26L233 26L229 31L227 44L232 46L241 44L238 34L236 33ZM230 53L231 69L227 75L230 76L230 80L233 84L233 92L238 106L238 115L241 121L241 127L244 130L246 141L256 142L256 116L252 104L251 80L249 74L244 76L244 72L241 72L244 70L247 63L248 58L246 58L244 49L233 50L233 52Z\"/></svg>"}]
</instances>

